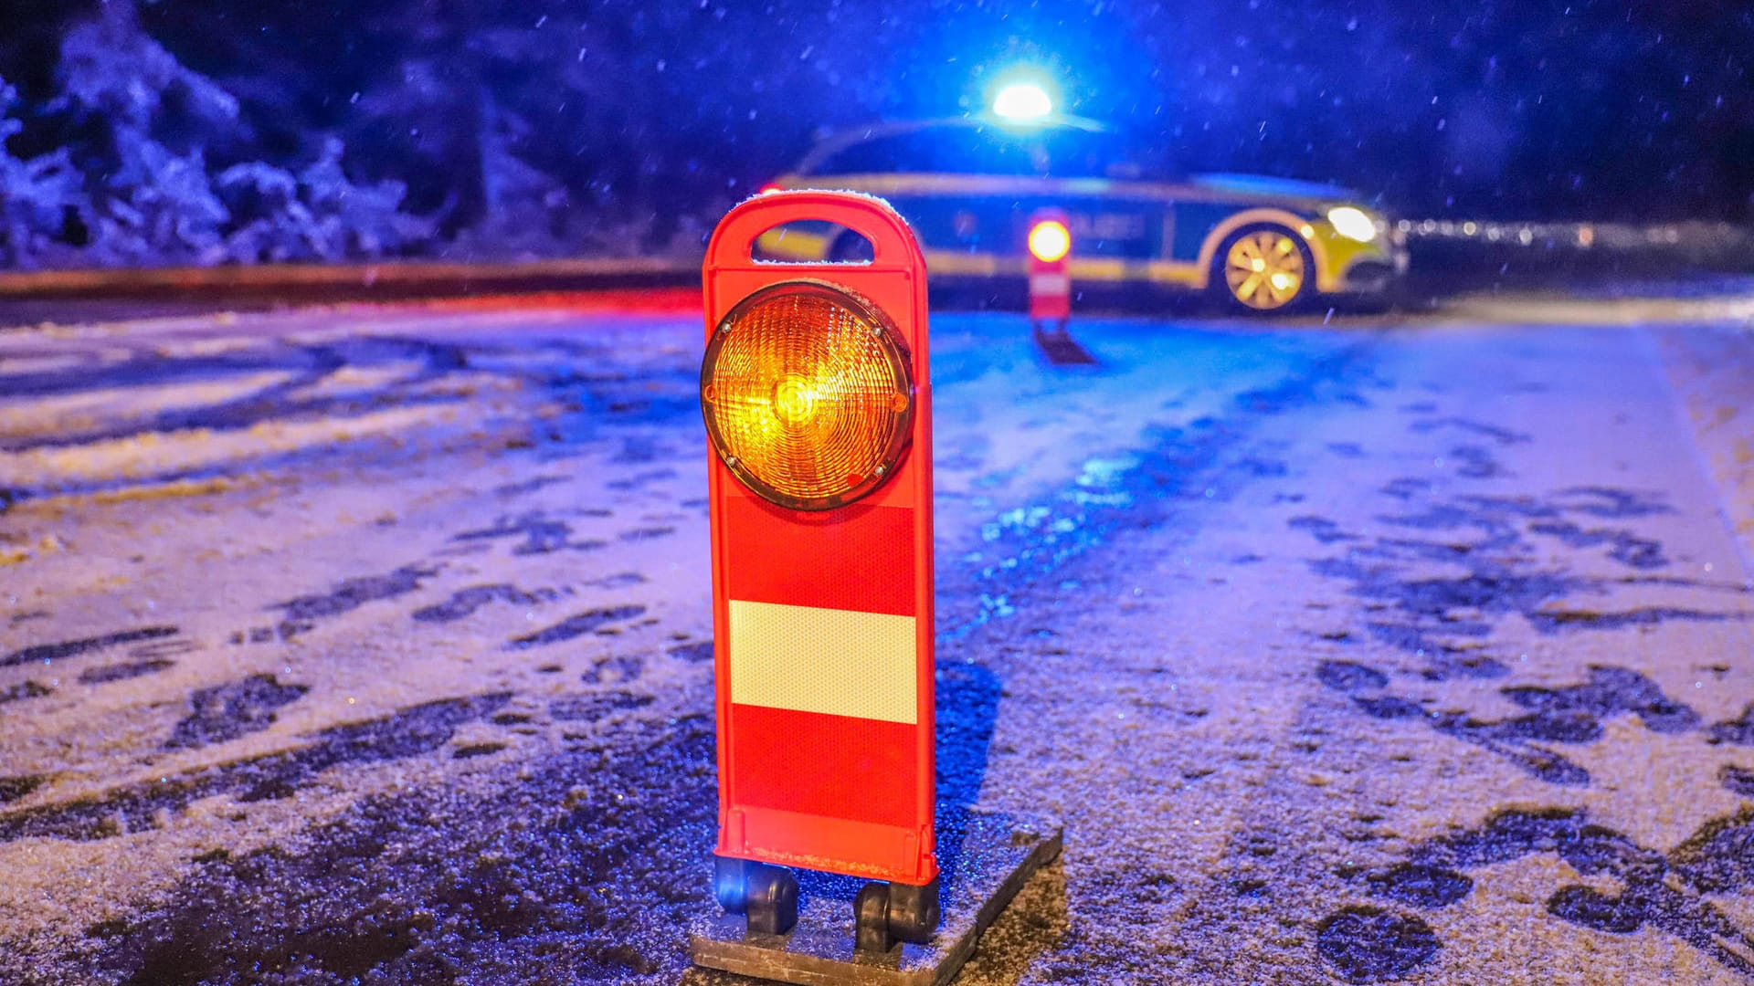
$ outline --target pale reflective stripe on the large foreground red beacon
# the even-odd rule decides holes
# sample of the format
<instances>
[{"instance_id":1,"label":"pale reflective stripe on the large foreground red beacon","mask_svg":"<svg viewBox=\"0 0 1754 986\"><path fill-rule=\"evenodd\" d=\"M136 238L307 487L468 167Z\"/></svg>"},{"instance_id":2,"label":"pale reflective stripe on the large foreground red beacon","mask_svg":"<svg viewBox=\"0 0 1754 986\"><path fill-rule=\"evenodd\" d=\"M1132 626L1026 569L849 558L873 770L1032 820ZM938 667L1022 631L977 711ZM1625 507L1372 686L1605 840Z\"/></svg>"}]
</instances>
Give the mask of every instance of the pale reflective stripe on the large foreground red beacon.
<instances>
[{"instance_id":1,"label":"pale reflective stripe on the large foreground red beacon","mask_svg":"<svg viewBox=\"0 0 1754 986\"><path fill-rule=\"evenodd\" d=\"M730 600L731 702L917 723L914 618Z\"/></svg>"}]
</instances>

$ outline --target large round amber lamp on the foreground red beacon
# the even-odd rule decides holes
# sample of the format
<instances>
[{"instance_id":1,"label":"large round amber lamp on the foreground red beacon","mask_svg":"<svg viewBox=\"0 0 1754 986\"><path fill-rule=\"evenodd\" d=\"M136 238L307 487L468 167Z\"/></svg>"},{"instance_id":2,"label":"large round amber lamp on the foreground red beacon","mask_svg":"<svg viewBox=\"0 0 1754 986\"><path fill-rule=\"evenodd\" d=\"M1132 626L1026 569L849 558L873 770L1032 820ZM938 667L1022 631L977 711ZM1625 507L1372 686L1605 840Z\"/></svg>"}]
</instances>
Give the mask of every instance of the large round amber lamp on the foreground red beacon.
<instances>
[{"instance_id":1,"label":"large round amber lamp on the foreground red beacon","mask_svg":"<svg viewBox=\"0 0 1754 986\"><path fill-rule=\"evenodd\" d=\"M895 325L863 298L816 281L772 284L738 302L707 344L707 435L731 474L774 504L851 504L907 454L909 365Z\"/></svg>"}]
</instances>

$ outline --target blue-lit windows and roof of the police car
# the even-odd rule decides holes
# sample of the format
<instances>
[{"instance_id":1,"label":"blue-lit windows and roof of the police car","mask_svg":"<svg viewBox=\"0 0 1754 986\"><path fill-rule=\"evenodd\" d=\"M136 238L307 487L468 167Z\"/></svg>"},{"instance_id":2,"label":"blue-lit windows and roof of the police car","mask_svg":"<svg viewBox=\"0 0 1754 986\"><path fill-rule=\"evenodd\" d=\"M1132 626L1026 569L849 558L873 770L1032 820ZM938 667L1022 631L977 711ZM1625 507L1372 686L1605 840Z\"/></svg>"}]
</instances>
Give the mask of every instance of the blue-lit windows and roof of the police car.
<instances>
[{"instance_id":1,"label":"blue-lit windows and roof of the police car","mask_svg":"<svg viewBox=\"0 0 1754 986\"><path fill-rule=\"evenodd\" d=\"M1077 126L940 125L875 135L824 158L812 174L979 174L1144 177L1147 168L1107 132ZM1151 170L1161 174L1161 170Z\"/></svg>"}]
</instances>

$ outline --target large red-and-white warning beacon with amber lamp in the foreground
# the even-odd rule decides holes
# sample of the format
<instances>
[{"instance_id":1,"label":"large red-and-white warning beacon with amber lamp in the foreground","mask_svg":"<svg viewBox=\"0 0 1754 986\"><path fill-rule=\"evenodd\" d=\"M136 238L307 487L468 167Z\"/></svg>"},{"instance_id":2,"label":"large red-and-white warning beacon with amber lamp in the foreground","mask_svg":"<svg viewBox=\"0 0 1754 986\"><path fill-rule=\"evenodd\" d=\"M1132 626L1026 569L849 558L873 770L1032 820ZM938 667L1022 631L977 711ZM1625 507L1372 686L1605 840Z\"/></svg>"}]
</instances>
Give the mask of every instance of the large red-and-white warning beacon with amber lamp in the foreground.
<instances>
[{"instance_id":1,"label":"large red-and-white warning beacon with amber lamp in the foreground","mask_svg":"<svg viewBox=\"0 0 1754 986\"><path fill-rule=\"evenodd\" d=\"M756 261L774 226L826 221L868 263ZM772 191L707 246L716 897L784 933L782 867L888 881L861 947L924 942L935 856L931 389L926 263L879 198Z\"/></svg>"}]
</instances>

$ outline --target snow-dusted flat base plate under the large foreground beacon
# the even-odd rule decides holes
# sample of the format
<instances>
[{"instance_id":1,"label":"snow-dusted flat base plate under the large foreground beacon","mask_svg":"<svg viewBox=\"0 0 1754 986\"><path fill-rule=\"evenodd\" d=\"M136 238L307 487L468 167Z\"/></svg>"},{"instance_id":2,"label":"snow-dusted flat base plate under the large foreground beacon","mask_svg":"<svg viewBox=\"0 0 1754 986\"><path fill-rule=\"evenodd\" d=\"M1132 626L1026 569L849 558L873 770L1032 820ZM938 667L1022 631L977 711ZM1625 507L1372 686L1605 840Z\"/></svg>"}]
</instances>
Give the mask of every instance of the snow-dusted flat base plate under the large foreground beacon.
<instances>
[{"instance_id":1,"label":"snow-dusted flat base plate under the large foreground beacon","mask_svg":"<svg viewBox=\"0 0 1754 986\"><path fill-rule=\"evenodd\" d=\"M789 935L747 935L744 919L717 914L688 937L695 965L800 984L942 986L973 954L980 933L1005 911L1035 870L1059 856L1058 825L980 812L940 812L938 865L944 923L924 946L896 944L886 954L852 949L852 897L810 893L807 874L798 926ZM845 881L837 890L856 888ZM842 898L844 897L844 898Z\"/></svg>"}]
</instances>

